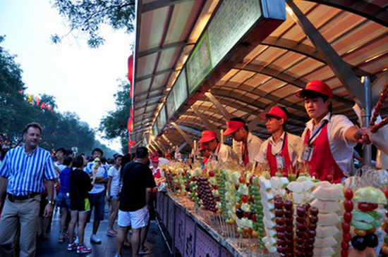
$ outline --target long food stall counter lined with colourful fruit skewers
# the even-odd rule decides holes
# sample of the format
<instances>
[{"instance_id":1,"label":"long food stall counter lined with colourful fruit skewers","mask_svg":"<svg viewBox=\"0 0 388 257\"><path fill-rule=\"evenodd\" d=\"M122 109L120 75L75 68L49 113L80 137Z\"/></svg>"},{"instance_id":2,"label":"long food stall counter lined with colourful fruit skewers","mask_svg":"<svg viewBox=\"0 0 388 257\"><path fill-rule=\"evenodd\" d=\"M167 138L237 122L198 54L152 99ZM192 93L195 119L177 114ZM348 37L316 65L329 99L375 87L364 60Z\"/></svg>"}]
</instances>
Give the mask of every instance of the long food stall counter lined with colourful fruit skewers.
<instances>
[{"instance_id":1,"label":"long food stall counter lined with colourful fruit skewers","mask_svg":"<svg viewBox=\"0 0 388 257\"><path fill-rule=\"evenodd\" d=\"M341 184L227 168L164 175L157 216L181 256L387 256L385 170Z\"/></svg>"}]
</instances>

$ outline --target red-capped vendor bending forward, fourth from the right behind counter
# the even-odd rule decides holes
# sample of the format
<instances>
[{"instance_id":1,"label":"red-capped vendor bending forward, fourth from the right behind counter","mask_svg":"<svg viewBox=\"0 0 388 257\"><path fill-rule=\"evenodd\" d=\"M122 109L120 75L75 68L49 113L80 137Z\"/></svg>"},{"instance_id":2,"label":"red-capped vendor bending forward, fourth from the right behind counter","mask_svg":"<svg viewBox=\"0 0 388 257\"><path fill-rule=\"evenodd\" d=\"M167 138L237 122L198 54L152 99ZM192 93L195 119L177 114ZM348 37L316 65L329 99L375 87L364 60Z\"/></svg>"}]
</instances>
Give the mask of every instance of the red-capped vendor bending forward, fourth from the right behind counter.
<instances>
[{"instance_id":1,"label":"red-capped vendor bending forward, fourth from the right behind counter","mask_svg":"<svg viewBox=\"0 0 388 257\"><path fill-rule=\"evenodd\" d=\"M226 144L220 144L216 132L211 130L202 131L202 138L199 141L210 151L210 159L215 159L221 163L234 160L238 162L237 154Z\"/></svg>"}]
</instances>

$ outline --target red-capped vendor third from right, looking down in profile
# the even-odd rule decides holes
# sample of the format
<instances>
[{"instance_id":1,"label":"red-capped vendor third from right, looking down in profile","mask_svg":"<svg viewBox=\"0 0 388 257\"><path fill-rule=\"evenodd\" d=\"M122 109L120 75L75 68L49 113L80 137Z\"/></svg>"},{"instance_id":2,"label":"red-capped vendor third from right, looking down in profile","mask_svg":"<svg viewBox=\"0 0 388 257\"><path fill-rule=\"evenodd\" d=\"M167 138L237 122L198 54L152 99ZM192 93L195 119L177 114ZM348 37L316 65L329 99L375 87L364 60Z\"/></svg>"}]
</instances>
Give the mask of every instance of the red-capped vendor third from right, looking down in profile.
<instances>
[{"instance_id":1,"label":"red-capped vendor third from right, looking down in profile","mask_svg":"<svg viewBox=\"0 0 388 257\"><path fill-rule=\"evenodd\" d=\"M226 121L226 130L222 135L226 136L228 134L237 142L242 142L241 160L243 165L253 163L255 156L259 153L262 139L250 133L248 126L241 118L231 118L231 120Z\"/></svg>"}]
</instances>

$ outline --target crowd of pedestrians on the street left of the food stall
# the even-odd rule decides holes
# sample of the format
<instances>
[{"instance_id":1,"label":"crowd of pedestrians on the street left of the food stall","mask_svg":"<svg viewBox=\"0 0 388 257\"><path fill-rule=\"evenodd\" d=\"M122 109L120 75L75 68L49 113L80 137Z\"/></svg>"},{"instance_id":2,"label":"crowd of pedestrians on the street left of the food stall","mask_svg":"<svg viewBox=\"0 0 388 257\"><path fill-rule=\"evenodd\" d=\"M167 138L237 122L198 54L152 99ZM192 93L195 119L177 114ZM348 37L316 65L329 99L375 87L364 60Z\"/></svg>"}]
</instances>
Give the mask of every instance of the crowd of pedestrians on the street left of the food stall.
<instances>
[{"instance_id":1,"label":"crowd of pedestrians on the street left of the food stall","mask_svg":"<svg viewBox=\"0 0 388 257\"><path fill-rule=\"evenodd\" d=\"M68 251L90 253L85 227L93 219L90 243L101 244L97 231L106 204L106 234L116 237L116 257L123 246L131 246L133 256L151 253L145 246L156 187L150 158L160 153L151 157L147 148L139 147L135 154L116 153L107 159L102 149L86 157L61 147L51 156L38 146L41 134L38 123L29 123L23 146L2 155L0 256L16 256L16 252L21 257L35 256L37 242L48 238L54 208L61 213L59 244L67 241Z\"/></svg>"}]
</instances>

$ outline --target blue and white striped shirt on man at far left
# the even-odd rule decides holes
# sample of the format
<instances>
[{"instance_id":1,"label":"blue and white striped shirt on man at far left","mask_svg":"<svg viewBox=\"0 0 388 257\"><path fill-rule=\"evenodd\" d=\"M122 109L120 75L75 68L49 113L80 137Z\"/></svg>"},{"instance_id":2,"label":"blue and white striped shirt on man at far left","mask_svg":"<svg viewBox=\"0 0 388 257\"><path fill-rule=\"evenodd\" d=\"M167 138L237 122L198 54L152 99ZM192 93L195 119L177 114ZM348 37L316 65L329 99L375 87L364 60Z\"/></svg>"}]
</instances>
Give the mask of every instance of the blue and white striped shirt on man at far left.
<instances>
[{"instance_id":1,"label":"blue and white striped shirt on man at far left","mask_svg":"<svg viewBox=\"0 0 388 257\"><path fill-rule=\"evenodd\" d=\"M50 153L39 146L31 153L24 146L8 151L1 162L0 175L8 177L7 193L16 196L44 192L44 180L56 178Z\"/></svg>"}]
</instances>

